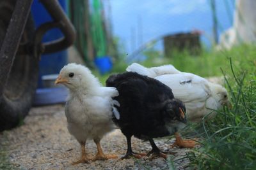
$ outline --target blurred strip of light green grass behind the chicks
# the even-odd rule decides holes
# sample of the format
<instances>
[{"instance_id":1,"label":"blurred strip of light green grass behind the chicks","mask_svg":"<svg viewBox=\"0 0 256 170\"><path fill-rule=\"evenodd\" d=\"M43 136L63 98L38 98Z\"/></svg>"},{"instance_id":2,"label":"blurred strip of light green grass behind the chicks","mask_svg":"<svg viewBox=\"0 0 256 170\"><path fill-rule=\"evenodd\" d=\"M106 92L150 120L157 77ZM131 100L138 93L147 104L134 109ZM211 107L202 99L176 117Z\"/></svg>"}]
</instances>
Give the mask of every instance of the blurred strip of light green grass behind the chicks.
<instances>
[{"instance_id":1,"label":"blurred strip of light green grass behind the chicks","mask_svg":"<svg viewBox=\"0 0 256 170\"><path fill-rule=\"evenodd\" d=\"M231 74L229 58L232 59L232 64L235 70L241 71L256 66L256 50L255 46L242 45L233 48L230 51L220 52L202 52L200 55L191 56L187 52L175 53L174 57L159 57L161 55L155 50L144 52L148 59L141 62L143 66L161 66L163 64L173 64L177 69L198 74L203 77L221 76L221 69L228 75ZM124 62L124 59L117 60L114 64L113 70L109 74L122 73L129 64ZM251 71L252 73L252 71ZM95 76L104 84L109 74L100 75L97 71L93 71Z\"/></svg>"}]
</instances>

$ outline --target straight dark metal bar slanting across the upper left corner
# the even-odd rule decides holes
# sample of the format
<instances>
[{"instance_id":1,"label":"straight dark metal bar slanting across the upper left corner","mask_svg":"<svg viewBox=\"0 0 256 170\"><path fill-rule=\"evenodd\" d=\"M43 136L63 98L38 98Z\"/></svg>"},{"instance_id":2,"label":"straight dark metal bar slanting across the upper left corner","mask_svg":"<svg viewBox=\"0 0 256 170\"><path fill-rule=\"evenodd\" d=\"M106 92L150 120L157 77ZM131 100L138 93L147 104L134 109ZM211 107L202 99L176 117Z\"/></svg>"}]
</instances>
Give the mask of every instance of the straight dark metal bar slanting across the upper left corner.
<instances>
[{"instance_id":1,"label":"straight dark metal bar slanting across the upper left corner","mask_svg":"<svg viewBox=\"0 0 256 170\"><path fill-rule=\"evenodd\" d=\"M0 101L3 89L12 69L13 60L19 47L20 38L33 0L19 0L15 8L0 50Z\"/></svg>"}]
</instances>

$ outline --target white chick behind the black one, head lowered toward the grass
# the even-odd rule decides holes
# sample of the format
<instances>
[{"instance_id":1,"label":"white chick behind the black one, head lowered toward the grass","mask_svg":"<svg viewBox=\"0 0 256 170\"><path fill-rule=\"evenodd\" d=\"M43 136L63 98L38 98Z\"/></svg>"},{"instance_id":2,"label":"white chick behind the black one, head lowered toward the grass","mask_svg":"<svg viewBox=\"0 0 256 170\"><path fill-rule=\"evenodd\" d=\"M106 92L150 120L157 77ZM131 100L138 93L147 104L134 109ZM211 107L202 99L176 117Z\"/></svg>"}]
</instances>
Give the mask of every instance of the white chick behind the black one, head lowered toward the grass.
<instances>
[{"instance_id":1,"label":"white chick behind the black one, head lowered toward the grass","mask_svg":"<svg viewBox=\"0 0 256 170\"><path fill-rule=\"evenodd\" d=\"M220 110L224 105L231 106L224 87L195 74L180 72L172 65L147 68L133 63L126 70L156 78L168 85L175 98L185 104L189 121L198 122L204 117L211 118L216 115L216 110ZM173 146L187 145L176 140Z\"/></svg>"}]
</instances>

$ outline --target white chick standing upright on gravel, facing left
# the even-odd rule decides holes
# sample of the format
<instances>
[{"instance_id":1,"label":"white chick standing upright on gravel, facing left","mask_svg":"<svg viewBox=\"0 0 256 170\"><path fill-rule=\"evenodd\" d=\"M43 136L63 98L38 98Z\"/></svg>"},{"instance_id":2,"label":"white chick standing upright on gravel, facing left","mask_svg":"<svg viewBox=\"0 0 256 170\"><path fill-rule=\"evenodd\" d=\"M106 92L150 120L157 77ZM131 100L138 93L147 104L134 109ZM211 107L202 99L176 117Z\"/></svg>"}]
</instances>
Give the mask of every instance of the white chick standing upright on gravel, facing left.
<instances>
[{"instance_id":1,"label":"white chick standing upright on gravel, facing left","mask_svg":"<svg viewBox=\"0 0 256 170\"><path fill-rule=\"evenodd\" d=\"M92 160L114 159L115 155L105 155L100 146L100 139L115 128L112 117L120 115L116 110L117 101L111 97L118 96L113 87L102 87L91 71L79 64L64 66L56 84L61 83L69 89L65 105L67 127L81 145L81 159L73 164L88 163L90 159L85 152L87 139L93 139L97 145L97 155Z\"/></svg>"}]
</instances>

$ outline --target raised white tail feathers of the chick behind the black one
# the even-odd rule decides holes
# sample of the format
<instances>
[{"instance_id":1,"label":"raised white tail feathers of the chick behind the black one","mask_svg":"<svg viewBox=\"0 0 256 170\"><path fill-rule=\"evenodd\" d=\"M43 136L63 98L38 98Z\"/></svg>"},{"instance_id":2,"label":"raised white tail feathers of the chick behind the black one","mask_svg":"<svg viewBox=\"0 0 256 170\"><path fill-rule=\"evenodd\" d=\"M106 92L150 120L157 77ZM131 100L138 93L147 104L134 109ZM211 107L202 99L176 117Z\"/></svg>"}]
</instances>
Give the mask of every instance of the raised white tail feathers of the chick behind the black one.
<instances>
[{"instance_id":1,"label":"raised white tail feathers of the chick behind the black one","mask_svg":"<svg viewBox=\"0 0 256 170\"><path fill-rule=\"evenodd\" d=\"M136 62L134 62L130 66L128 66L126 68L126 71L136 72L138 74L148 76L151 78L154 78L157 76L157 74L152 69L148 69L147 67L141 66L140 64L138 64Z\"/></svg>"}]
</instances>

